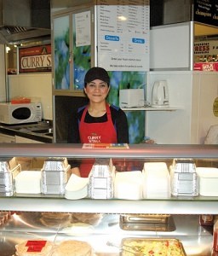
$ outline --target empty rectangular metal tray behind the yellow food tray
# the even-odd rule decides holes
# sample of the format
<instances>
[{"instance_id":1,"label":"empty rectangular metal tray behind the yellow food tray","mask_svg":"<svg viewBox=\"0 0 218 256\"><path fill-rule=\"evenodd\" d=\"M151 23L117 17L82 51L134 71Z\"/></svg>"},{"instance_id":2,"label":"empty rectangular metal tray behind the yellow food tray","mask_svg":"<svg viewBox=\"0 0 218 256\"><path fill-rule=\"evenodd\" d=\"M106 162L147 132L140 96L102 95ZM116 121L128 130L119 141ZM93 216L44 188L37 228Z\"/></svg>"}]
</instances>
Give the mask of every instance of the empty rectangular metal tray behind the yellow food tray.
<instances>
[{"instance_id":1,"label":"empty rectangular metal tray behind the yellow food tray","mask_svg":"<svg viewBox=\"0 0 218 256\"><path fill-rule=\"evenodd\" d=\"M175 223L168 214L128 214L120 215L119 225L122 230L174 231Z\"/></svg>"}]
</instances>

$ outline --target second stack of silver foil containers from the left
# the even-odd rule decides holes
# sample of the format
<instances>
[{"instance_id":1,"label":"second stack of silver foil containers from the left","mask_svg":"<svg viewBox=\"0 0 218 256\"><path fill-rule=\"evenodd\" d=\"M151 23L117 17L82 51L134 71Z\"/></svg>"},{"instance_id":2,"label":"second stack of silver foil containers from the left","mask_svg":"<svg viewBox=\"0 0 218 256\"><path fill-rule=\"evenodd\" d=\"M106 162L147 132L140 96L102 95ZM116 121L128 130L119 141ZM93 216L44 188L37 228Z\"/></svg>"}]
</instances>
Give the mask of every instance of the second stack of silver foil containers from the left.
<instances>
[{"instance_id":1,"label":"second stack of silver foil containers from the left","mask_svg":"<svg viewBox=\"0 0 218 256\"><path fill-rule=\"evenodd\" d=\"M41 191L43 194L65 194L66 183L71 176L71 166L66 158L49 158L41 170Z\"/></svg>"}]
</instances>

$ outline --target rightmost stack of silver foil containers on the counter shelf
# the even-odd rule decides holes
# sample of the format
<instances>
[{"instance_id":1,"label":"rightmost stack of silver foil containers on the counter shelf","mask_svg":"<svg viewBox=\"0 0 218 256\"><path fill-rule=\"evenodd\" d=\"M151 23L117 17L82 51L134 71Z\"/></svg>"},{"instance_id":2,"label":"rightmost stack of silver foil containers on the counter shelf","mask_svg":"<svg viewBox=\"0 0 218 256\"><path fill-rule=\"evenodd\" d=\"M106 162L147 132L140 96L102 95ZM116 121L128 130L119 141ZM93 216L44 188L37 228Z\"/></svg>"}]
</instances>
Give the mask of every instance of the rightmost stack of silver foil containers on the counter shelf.
<instances>
[{"instance_id":1,"label":"rightmost stack of silver foil containers on the counter shelf","mask_svg":"<svg viewBox=\"0 0 218 256\"><path fill-rule=\"evenodd\" d=\"M172 195L198 195L198 174L192 159L174 159L170 178Z\"/></svg>"}]
</instances>

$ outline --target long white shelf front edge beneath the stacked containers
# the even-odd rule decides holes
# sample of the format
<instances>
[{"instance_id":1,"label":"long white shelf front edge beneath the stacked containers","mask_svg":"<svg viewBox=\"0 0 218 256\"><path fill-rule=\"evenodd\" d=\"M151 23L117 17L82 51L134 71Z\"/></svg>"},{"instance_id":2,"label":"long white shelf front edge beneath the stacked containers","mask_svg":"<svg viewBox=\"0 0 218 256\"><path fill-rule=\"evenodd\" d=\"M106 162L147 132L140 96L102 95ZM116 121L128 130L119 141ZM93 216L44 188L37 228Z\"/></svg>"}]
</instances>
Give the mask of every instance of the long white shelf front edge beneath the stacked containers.
<instances>
[{"instance_id":1,"label":"long white shelf front edge beneath the stacked containers","mask_svg":"<svg viewBox=\"0 0 218 256\"><path fill-rule=\"evenodd\" d=\"M48 197L1 197L0 209L18 212L99 212L146 214L218 214L218 198L213 200L66 200Z\"/></svg>"}]
</instances>

